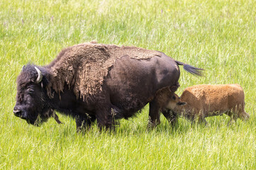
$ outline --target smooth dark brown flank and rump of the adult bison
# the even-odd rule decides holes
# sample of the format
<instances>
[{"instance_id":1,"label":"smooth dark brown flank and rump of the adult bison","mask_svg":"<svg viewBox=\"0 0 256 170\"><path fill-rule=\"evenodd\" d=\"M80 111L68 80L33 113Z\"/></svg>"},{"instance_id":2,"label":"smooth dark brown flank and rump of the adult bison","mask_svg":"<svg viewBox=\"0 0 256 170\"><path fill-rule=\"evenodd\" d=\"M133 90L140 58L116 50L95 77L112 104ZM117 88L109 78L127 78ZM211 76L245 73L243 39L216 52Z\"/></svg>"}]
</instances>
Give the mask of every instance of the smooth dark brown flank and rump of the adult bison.
<instances>
[{"instance_id":1,"label":"smooth dark brown flank and rump of the adult bison","mask_svg":"<svg viewBox=\"0 0 256 170\"><path fill-rule=\"evenodd\" d=\"M106 77L118 118L129 118L155 97L157 90L178 84L179 67L170 57L136 60L122 57Z\"/></svg>"}]
</instances>

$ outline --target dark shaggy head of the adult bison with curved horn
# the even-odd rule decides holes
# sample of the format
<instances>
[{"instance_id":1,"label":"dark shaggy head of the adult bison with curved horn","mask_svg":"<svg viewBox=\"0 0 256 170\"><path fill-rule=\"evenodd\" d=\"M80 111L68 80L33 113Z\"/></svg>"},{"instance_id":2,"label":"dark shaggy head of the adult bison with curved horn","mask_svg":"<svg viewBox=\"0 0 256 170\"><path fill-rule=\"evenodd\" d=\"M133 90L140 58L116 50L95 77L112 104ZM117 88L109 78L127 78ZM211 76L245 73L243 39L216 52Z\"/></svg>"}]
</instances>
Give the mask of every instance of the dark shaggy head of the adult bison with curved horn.
<instances>
[{"instance_id":1,"label":"dark shaggy head of the adult bison with curved horn","mask_svg":"<svg viewBox=\"0 0 256 170\"><path fill-rule=\"evenodd\" d=\"M50 108L50 98L45 86L50 74L43 67L28 64L23 67L17 79L16 106L13 113L32 125L40 125L55 113Z\"/></svg>"}]
</instances>

